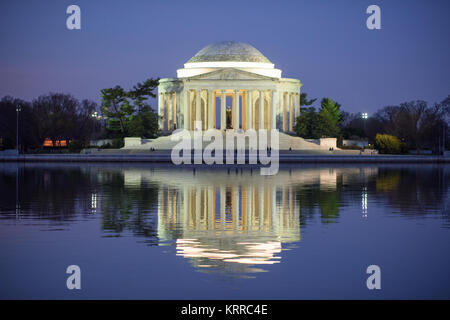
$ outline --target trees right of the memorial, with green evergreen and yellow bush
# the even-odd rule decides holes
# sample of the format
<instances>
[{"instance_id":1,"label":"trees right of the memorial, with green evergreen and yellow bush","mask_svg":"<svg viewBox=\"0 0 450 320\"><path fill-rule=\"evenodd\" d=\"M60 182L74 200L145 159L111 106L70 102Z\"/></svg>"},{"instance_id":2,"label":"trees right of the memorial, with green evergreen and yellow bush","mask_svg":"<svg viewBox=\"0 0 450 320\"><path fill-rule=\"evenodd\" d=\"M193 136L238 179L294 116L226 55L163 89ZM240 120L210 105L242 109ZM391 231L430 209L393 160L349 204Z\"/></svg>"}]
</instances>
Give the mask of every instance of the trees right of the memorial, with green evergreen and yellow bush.
<instances>
[{"instance_id":1,"label":"trees right of the memorial, with green evergreen and yellow bush","mask_svg":"<svg viewBox=\"0 0 450 320\"><path fill-rule=\"evenodd\" d=\"M295 132L307 139L322 137L362 140L384 153L405 153L410 149L423 149L440 153L450 148L450 95L439 103L428 105L422 100L386 106L364 118L362 113L348 113L330 98L323 98L316 109L316 99L300 96L300 115Z\"/></svg>"}]
</instances>

